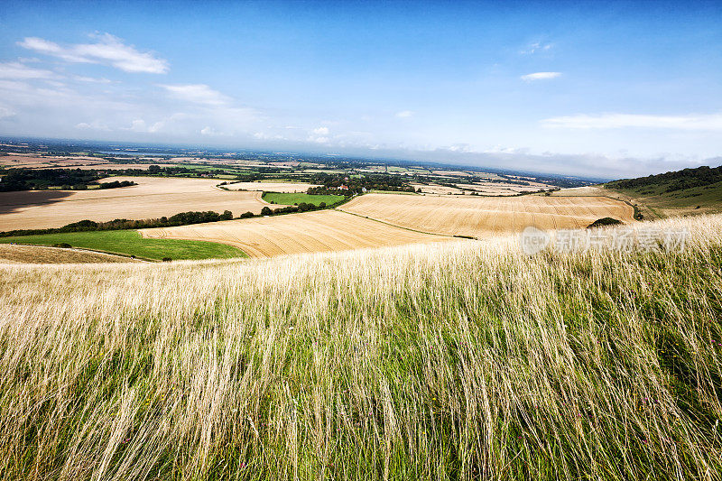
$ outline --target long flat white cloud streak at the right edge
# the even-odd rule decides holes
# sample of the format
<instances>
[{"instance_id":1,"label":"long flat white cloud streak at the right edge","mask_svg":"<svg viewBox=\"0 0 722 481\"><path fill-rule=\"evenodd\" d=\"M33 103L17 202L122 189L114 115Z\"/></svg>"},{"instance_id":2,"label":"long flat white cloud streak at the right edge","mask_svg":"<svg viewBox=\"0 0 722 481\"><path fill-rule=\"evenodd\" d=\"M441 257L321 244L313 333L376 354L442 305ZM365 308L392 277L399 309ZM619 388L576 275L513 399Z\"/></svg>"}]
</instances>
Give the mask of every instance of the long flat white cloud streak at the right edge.
<instances>
[{"instance_id":1,"label":"long flat white cloud streak at the right edge","mask_svg":"<svg viewBox=\"0 0 722 481\"><path fill-rule=\"evenodd\" d=\"M676 130L722 131L722 114L688 116L643 116L636 114L602 114L599 116L560 116L542 120L546 127L571 129L653 128Z\"/></svg>"}]
</instances>

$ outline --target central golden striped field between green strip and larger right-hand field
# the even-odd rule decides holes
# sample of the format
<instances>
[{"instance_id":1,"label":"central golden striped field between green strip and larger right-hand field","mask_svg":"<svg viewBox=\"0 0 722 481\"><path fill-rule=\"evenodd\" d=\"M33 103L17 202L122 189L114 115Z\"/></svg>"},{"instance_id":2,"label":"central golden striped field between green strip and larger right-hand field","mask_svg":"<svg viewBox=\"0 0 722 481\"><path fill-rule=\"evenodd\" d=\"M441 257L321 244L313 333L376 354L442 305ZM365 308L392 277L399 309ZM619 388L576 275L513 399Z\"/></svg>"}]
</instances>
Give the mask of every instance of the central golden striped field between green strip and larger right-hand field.
<instances>
[{"instance_id":1,"label":"central golden striped field between green strip and larger right-hand field","mask_svg":"<svg viewBox=\"0 0 722 481\"><path fill-rule=\"evenodd\" d=\"M234 245L251 257L427 244L450 239L388 226L338 210L159 227L140 232L144 237L206 240Z\"/></svg>"}]
</instances>

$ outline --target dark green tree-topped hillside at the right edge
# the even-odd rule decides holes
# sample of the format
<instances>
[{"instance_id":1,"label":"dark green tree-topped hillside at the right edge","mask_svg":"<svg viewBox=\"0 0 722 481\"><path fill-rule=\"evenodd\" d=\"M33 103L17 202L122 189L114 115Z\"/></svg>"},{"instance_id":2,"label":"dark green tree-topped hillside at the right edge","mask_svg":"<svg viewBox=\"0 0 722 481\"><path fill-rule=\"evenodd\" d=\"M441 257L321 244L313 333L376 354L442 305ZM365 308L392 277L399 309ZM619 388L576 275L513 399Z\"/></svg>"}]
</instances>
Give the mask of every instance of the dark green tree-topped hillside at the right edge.
<instances>
[{"instance_id":1,"label":"dark green tree-topped hillside at the right edge","mask_svg":"<svg viewBox=\"0 0 722 481\"><path fill-rule=\"evenodd\" d=\"M615 180L605 187L640 204L646 218L722 212L722 167Z\"/></svg>"}]
</instances>

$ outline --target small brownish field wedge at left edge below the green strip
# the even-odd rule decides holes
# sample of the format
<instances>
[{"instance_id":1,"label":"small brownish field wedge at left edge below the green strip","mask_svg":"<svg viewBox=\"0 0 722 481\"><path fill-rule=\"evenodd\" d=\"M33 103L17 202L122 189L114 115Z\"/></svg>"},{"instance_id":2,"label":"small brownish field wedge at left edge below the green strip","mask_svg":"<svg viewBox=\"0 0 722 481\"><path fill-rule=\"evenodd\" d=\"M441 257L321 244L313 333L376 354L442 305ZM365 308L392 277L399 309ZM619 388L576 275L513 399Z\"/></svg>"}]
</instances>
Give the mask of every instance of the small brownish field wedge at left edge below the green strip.
<instances>
[{"instance_id":1,"label":"small brownish field wedge at left edge below the green strip","mask_svg":"<svg viewBox=\"0 0 722 481\"><path fill-rule=\"evenodd\" d=\"M0 264L98 264L140 262L122 255L41 245L0 244Z\"/></svg>"}]
</instances>

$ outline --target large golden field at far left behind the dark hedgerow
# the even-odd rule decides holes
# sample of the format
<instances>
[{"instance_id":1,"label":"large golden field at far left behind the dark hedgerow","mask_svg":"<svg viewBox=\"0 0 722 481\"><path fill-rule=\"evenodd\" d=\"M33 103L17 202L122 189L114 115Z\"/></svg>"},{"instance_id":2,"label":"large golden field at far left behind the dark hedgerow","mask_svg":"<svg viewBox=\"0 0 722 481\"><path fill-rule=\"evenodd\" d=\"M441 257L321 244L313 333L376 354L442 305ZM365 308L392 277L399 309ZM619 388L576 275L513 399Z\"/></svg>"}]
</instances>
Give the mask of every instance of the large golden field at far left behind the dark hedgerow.
<instances>
[{"instance_id":1,"label":"large golden field at far left behind the dark hedgerow","mask_svg":"<svg viewBox=\"0 0 722 481\"><path fill-rule=\"evenodd\" d=\"M261 192L229 192L218 180L112 177L138 185L107 190L31 190L0 192L0 231L62 227L89 219L142 219L172 216L189 210L260 213L268 205ZM276 206L278 207L278 206Z\"/></svg>"}]
</instances>

